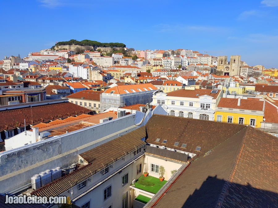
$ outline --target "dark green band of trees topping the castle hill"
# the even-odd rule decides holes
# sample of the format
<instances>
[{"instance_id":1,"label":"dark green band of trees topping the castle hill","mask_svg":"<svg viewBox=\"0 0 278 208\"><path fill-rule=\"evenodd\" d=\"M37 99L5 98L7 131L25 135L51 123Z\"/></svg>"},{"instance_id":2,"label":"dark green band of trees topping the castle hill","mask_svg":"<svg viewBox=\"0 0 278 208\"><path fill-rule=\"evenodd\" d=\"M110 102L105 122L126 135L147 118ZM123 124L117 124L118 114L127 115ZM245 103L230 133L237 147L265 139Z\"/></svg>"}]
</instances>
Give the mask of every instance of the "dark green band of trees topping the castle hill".
<instances>
[{"instance_id":1,"label":"dark green band of trees topping the castle hill","mask_svg":"<svg viewBox=\"0 0 278 208\"><path fill-rule=\"evenodd\" d=\"M78 40L70 40L70 41L62 41L62 42L58 42L55 44L54 47L56 46L64 46L64 45L78 45L78 46L92 46L94 48L97 47L126 47L126 45L124 43L100 43L98 41L94 41L94 40L82 40L82 41L78 41Z\"/></svg>"}]
</instances>

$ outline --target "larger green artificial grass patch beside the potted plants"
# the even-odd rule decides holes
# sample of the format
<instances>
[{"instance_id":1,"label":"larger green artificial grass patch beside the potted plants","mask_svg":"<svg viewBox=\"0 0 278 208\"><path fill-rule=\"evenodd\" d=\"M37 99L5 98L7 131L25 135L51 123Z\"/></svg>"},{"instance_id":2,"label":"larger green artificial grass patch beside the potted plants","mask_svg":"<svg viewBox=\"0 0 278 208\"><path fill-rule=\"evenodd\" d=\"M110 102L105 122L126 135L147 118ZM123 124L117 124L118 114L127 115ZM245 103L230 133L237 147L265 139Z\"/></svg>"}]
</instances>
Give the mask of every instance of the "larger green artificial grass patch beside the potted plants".
<instances>
[{"instance_id":1,"label":"larger green artificial grass patch beside the potted plants","mask_svg":"<svg viewBox=\"0 0 278 208\"><path fill-rule=\"evenodd\" d=\"M159 178L144 175L140 176L136 182L135 187L153 194L156 194L167 181L160 181Z\"/></svg>"}]
</instances>

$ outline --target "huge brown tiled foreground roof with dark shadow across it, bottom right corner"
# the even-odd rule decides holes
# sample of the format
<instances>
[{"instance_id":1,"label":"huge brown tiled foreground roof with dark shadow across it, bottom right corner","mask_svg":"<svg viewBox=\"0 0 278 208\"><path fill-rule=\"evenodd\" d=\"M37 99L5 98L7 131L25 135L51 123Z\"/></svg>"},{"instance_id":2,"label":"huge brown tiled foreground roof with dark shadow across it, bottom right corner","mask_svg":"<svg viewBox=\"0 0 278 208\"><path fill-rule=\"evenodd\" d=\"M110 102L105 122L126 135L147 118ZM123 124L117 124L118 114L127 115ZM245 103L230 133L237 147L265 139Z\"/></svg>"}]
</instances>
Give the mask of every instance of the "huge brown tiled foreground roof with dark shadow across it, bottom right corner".
<instances>
[{"instance_id":1,"label":"huge brown tiled foreground roof with dark shadow across it, bottom right corner","mask_svg":"<svg viewBox=\"0 0 278 208\"><path fill-rule=\"evenodd\" d=\"M248 126L191 162L155 207L277 207L277 150Z\"/></svg>"}]
</instances>

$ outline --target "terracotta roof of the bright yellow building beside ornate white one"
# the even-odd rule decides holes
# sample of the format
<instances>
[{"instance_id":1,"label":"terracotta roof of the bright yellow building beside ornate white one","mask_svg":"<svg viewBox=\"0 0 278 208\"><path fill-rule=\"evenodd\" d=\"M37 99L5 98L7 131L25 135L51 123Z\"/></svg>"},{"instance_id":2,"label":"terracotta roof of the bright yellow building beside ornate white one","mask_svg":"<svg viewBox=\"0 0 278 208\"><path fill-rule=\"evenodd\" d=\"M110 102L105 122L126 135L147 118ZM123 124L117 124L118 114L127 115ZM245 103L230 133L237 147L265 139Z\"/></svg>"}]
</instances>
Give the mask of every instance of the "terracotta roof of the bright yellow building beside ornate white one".
<instances>
[{"instance_id":1,"label":"terracotta roof of the bright yellow building beside ornate white one","mask_svg":"<svg viewBox=\"0 0 278 208\"><path fill-rule=\"evenodd\" d=\"M221 97L217 107L262 111L263 101L259 99L240 99L240 105L238 106L238 99Z\"/></svg>"}]
</instances>

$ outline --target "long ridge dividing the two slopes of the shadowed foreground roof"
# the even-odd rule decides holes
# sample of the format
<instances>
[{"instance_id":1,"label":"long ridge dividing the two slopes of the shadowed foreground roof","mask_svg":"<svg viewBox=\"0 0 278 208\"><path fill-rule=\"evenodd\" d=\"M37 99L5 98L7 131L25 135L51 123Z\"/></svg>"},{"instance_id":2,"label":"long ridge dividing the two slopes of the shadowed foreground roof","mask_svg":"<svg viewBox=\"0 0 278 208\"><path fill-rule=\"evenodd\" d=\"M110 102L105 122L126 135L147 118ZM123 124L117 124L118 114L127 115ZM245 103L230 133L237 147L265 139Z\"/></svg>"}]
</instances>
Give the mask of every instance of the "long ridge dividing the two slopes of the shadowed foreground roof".
<instances>
[{"instance_id":1,"label":"long ridge dividing the two slopes of the shadowed foreground roof","mask_svg":"<svg viewBox=\"0 0 278 208\"><path fill-rule=\"evenodd\" d=\"M246 128L248 128L248 126L246 126ZM237 153L236 157L234 158L234 163L233 163L233 165L231 167L231 170L230 170L230 173L229 173L229 175L227 177L227 180L225 181L225 184L223 186L222 192L221 192L221 194L220 194L220 196L218 198L218 201L217 201L217 204L216 204L215 208L220 208L221 207L221 205L223 203L223 200L224 200L224 196L225 196L225 194L226 194L226 192L228 190L228 187L230 186L231 176L234 173L234 170L236 169L236 166L237 166L237 162L236 161L238 161L238 159L239 159L239 157L241 155L241 152L242 152L242 148L244 147L243 143L245 141L246 133L248 132L248 129L246 129L246 128L244 128L245 129L245 133L244 133L244 136L242 138L240 147L238 148L238 153ZM251 127L249 127L249 128L251 128ZM242 129L242 130L244 130L244 129Z\"/></svg>"}]
</instances>

